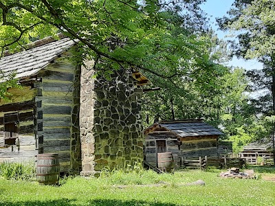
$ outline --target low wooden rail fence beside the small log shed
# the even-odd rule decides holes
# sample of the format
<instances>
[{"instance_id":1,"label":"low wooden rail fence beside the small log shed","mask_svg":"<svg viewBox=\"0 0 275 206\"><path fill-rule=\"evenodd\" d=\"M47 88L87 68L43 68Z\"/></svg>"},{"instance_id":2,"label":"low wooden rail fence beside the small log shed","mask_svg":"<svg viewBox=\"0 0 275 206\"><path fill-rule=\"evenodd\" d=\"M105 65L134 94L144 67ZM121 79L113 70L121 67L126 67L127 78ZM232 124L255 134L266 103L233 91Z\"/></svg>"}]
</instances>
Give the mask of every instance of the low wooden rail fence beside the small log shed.
<instances>
[{"instance_id":1,"label":"low wooden rail fence beside the small log shed","mask_svg":"<svg viewBox=\"0 0 275 206\"><path fill-rule=\"evenodd\" d=\"M199 157L199 159L186 159L181 158L181 168L187 169L206 169L208 167L215 168L243 168L246 165L245 159L243 158L210 158L210 157Z\"/></svg>"}]
</instances>

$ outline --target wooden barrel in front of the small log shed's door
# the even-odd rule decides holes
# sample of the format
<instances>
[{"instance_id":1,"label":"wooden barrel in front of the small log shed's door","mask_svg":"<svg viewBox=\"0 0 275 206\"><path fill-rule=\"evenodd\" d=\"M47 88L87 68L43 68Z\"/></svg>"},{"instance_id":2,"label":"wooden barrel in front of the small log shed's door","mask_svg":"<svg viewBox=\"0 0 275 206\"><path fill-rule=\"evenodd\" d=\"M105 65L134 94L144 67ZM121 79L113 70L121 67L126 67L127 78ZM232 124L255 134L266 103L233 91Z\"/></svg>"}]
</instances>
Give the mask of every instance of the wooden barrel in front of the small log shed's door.
<instances>
[{"instance_id":1,"label":"wooden barrel in front of the small log shed's door","mask_svg":"<svg viewBox=\"0 0 275 206\"><path fill-rule=\"evenodd\" d=\"M174 171L174 159L172 152L157 153L157 168L165 172Z\"/></svg>"}]
</instances>

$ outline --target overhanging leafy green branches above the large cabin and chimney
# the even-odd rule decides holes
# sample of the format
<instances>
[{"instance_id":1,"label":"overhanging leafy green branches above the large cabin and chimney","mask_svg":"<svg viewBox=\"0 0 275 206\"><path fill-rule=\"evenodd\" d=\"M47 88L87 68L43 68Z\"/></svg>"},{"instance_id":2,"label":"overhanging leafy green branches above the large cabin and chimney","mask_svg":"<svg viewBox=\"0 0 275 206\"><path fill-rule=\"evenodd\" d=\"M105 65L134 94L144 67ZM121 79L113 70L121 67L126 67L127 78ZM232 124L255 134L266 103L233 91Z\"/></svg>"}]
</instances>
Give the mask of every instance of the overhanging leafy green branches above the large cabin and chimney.
<instances>
[{"instance_id":1,"label":"overhanging leafy green branches above the large cabin and chimney","mask_svg":"<svg viewBox=\"0 0 275 206\"><path fill-rule=\"evenodd\" d=\"M197 36L178 32L170 19L182 8L183 16L188 12L200 16L196 11L203 1L1 0L1 54L63 32L79 41L80 56L94 58L106 76L109 68L121 67L162 78L180 76L190 61L210 62Z\"/></svg>"}]
</instances>

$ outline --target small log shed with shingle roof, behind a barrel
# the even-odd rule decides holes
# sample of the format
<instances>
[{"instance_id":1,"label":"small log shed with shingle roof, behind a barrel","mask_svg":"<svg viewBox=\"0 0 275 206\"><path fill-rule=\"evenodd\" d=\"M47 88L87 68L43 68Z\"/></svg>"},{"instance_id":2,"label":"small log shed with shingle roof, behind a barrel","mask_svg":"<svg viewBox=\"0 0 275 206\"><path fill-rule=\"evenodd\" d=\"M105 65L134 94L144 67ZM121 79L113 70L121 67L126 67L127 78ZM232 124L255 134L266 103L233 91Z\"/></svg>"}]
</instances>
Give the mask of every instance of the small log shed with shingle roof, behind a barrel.
<instances>
[{"instance_id":1,"label":"small log shed with shingle roof, behind a barrel","mask_svg":"<svg viewBox=\"0 0 275 206\"><path fill-rule=\"evenodd\" d=\"M220 130L198 119L159 122L144 130L144 155L148 163L157 166L157 153L172 152L175 167L181 157L218 157Z\"/></svg>"}]
</instances>

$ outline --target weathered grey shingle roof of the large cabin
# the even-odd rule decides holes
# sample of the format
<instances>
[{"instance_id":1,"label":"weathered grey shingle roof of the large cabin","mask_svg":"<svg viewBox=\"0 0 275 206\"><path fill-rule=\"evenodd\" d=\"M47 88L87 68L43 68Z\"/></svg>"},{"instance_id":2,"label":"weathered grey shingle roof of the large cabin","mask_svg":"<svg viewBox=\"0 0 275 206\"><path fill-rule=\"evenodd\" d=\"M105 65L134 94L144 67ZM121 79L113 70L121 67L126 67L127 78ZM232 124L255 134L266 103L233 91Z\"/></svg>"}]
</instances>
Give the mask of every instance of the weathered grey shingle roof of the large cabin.
<instances>
[{"instance_id":1,"label":"weathered grey shingle roof of the large cabin","mask_svg":"<svg viewBox=\"0 0 275 206\"><path fill-rule=\"evenodd\" d=\"M0 71L4 77L12 72L16 73L15 78L34 76L75 43L74 40L63 38L10 56L4 56L0 58Z\"/></svg>"}]
</instances>

